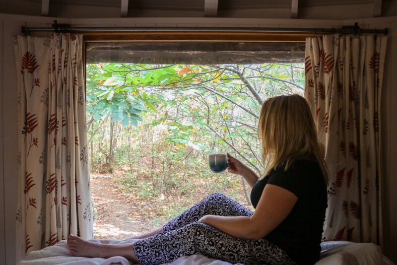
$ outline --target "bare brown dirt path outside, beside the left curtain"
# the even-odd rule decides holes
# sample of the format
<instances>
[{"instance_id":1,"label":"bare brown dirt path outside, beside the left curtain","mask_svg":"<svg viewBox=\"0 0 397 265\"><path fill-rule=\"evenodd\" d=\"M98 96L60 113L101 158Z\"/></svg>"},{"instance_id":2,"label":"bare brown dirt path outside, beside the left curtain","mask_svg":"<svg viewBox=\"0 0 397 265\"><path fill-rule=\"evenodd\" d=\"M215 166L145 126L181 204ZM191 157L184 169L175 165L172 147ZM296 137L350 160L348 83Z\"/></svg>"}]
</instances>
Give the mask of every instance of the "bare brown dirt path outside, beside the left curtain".
<instances>
[{"instance_id":1,"label":"bare brown dirt path outside, beside the left curtain","mask_svg":"<svg viewBox=\"0 0 397 265\"><path fill-rule=\"evenodd\" d=\"M128 239L151 230L142 221L137 205L114 187L112 175L91 174L94 204L94 238ZM95 214L96 212L96 214Z\"/></svg>"}]
</instances>

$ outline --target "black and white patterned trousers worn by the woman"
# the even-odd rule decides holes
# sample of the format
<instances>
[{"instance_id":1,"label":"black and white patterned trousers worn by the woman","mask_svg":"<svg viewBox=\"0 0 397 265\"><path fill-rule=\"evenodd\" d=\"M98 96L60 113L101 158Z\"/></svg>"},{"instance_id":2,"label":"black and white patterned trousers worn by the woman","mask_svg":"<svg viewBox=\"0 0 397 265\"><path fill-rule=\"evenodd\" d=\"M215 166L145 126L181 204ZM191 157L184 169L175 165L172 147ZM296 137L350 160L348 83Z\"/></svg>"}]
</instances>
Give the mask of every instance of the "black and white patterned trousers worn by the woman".
<instances>
[{"instance_id":1,"label":"black and white patterned trousers worn by the woman","mask_svg":"<svg viewBox=\"0 0 397 265\"><path fill-rule=\"evenodd\" d=\"M137 260L143 265L165 264L183 256L202 254L232 264L295 264L265 238L240 239L198 222L206 214L251 216L253 211L214 193L165 224L164 232L136 241L133 250Z\"/></svg>"}]
</instances>

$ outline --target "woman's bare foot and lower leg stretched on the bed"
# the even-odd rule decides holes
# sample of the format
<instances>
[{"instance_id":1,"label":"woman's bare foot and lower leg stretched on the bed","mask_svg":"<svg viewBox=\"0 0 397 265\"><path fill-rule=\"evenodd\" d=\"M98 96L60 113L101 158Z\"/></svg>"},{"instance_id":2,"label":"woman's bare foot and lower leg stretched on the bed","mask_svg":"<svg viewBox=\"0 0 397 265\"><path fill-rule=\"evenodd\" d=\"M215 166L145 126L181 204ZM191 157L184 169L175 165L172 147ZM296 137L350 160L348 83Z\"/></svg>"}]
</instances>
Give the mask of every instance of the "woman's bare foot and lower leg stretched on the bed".
<instances>
[{"instance_id":1,"label":"woman's bare foot and lower leg stretched on the bed","mask_svg":"<svg viewBox=\"0 0 397 265\"><path fill-rule=\"evenodd\" d=\"M132 262L137 262L133 253L133 243L117 245L103 244L69 235L66 245L70 254L77 257L106 259L114 256L122 256Z\"/></svg>"}]
</instances>

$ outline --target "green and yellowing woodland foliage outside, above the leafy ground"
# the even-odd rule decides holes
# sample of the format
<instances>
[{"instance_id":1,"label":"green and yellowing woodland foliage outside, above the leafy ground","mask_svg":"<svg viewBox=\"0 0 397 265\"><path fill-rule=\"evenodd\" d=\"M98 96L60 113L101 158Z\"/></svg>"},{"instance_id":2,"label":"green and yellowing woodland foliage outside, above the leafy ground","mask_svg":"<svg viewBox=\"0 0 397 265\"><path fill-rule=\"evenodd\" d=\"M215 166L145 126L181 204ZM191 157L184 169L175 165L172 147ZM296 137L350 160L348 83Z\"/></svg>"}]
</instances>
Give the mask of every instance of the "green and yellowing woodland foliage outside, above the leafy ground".
<instances>
[{"instance_id":1,"label":"green and yellowing woodland foliage outside, above the leafy ground","mask_svg":"<svg viewBox=\"0 0 397 265\"><path fill-rule=\"evenodd\" d=\"M127 168L118 185L141 199L241 187L211 180L207 155L230 152L259 173L261 105L303 85L302 65L87 65L91 169Z\"/></svg>"}]
</instances>

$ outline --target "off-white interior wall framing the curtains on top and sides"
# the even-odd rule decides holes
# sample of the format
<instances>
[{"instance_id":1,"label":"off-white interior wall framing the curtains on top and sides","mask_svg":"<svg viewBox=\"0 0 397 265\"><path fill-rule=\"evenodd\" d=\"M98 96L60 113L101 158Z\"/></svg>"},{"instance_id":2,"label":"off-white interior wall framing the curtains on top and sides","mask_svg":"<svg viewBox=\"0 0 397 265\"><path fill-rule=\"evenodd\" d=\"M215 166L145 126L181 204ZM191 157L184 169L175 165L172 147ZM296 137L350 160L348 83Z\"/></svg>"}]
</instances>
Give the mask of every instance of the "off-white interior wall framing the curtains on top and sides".
<instances>
[{"instance_id":1,"label":"off-white interior wall framing the curtains on top and sides","mask_svg":"<svg viewBox=\"0 0 397 265\"><path fill-rule=\"evenodd\" d=\"M47 27L57 19L58 23L74 26L217 26L217 27L339 27L352 25L357 20L309 20L309 19L262 19L262 18L103 18L103 19L61 19L54 17L36 17L0 14L0 264L15 264L15 208L17 196L17 94L16 70L12 37L20 34L20 27ZM385 69L384 90L382 96L382 130L384 143L384 215L385 239L384 252L397 263L397 139L393 132L397 130L397 17L370 18L358 20L361 27L389 28L388 60ZM1 27L2 26L2 27ZM41 33L45 35L48 33ZM38 35L35 33L34 35ZM6 118L3 118L6 117Z\"/></svg>"}]
</instances>

